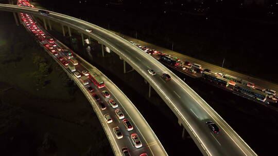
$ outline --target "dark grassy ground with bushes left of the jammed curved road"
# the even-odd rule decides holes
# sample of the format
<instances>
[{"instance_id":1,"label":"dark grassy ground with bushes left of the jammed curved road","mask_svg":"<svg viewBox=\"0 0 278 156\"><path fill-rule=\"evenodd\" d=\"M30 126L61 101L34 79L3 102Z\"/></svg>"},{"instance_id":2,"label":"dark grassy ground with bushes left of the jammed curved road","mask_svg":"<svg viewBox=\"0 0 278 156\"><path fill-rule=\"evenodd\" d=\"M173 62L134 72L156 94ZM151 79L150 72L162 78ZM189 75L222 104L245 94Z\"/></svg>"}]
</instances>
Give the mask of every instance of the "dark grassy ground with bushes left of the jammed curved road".
<instances>
[{"instance_id":1,"label":"dark grassy ground with bushes left of the jammed curved road","mask_svg":"<svg viewBox=\"0 0 278 156\"><path fill-rule=\"evenodd\" d=\"M0 14L0 155L112 155L83 93L12 13Z\"/></svg>"}]
</instances>

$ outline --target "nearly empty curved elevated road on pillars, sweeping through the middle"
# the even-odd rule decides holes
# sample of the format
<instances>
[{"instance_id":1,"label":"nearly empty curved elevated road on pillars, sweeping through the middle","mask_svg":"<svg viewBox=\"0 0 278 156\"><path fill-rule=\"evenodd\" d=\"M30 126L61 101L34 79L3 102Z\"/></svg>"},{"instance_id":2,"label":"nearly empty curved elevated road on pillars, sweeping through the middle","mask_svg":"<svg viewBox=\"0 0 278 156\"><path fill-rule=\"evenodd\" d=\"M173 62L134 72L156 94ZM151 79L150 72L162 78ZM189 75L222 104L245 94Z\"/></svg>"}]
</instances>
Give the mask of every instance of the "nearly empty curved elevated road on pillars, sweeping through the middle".
<instances>
[{"instance_id":1,"label":"nearly empty curved elevated road on pillars, sweeping through the middle","mask_svg":"<svg viewBox=\"0 0 278 156\"><path fill-rule=\"evenodd\" d=\"M0 10L42 16L38 14L38 9L12 5L0 5ZM100 44L107 46L121 56L159 93L204 155L256 155L244 140L194 90L141 49L103 28L78 18L56 12L50 12L50 16L45 18L70 26L94 38ZM89 33L85 29L92 29L93 31ZM157 75L149 75L148 69L155 70ZM160 77L162 73L168 73L172 77L171 81L165 82ZM207 128L205 122L209 120L214 121L219 126L220 134L215 135Z\"/></svg>"}]
</instances>

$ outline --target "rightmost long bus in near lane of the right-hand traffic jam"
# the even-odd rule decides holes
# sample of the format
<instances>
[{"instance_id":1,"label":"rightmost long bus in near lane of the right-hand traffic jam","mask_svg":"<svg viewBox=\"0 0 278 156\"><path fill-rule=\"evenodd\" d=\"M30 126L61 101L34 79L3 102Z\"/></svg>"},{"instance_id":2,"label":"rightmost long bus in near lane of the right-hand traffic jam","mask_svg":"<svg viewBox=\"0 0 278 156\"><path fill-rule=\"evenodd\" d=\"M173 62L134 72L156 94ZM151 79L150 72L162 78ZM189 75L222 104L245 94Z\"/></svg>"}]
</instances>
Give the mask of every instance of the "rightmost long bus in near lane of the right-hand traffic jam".
<instances>
[{"instance_id":1,"label":"rightmost long bus in near lane of the right-hand traffic jam","mask_svg":"<svg viewBox=\"0 0 278 156\"><path fill-rule=\"evenodd\" d=\"M246 85L240 83L237 83L233 89L237 92L250 96L253 99L257 99L259 101L266 101L267 98L267 93L247 87Z\"/></svg>"}]
</instances>

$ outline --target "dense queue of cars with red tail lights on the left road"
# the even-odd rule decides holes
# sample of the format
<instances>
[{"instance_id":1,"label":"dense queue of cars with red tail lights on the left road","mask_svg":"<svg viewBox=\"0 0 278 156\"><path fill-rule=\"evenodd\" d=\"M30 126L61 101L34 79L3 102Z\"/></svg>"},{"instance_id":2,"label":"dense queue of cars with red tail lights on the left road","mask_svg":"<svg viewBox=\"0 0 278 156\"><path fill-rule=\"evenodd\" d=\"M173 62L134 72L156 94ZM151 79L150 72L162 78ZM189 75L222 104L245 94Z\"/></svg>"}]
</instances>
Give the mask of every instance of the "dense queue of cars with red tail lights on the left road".
<instances>
[{"instance_id":1,"label":"dense queue of cars with red tail lights on the left road","mask_svg":"<svg viewBox=\"0 0 278 156\"><path fill-rule=\"evenodd\" d=\"M29 1L25 0L19 0L18 6L34 8L33 5L29 4ZM43 13L45 14L45 12L46 11ZM121 110L119 103L116 102L115 98L107 91L109 89L106 88L101 77L94 71L89 72L89 70L79 64L73 52L71 52L70 49L63 48L63 46L43 30L43 28L34 21L29 14L19 13L19 15L23 25L34 35L44 49L52 54L64 68L70 71L74 77L84 85L86 91L92 95L93 99L98 104L97 107L102 112L103 119L108 124L108 127L111 128L111 132L115 139L123 140L123 138L125 138L126 141L121 142L121 144L127 142L130 144L120 147L122 154L130 155L130 153L135 150L136 153L138 153L137 149L143 146L140 136L136 133L136 129L128 119L128 116ZM147 156L144 149L140 151L142 152L138 155Z\"/></svg>"}]
</instances>

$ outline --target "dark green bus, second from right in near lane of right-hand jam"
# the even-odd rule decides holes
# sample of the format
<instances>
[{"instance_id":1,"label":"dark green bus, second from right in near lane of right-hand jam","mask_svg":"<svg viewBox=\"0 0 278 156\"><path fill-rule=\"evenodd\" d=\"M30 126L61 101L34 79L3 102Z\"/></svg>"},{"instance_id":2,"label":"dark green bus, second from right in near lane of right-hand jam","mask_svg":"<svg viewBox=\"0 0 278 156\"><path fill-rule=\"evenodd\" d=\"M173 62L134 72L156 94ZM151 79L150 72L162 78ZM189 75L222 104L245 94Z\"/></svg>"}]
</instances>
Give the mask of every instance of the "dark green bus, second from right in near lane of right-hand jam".
<instances>
[{"instance_id":1,"label":"dark green bus, second from right in near lane of right-hand jam","mask_svg":"<svg viewBox=\"0 0 278 156\"><path fill-rule=\"evenodd\" d=\"M211 81L217 85L225 86L225 87L229 86L229 82L230 82L229 80L224 79L223 77L217 76L214 73L204 71L202 73L202 77L203 77L203 79Z\"/></svg>"}]
</instances>

